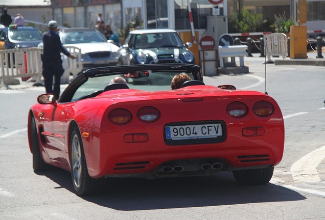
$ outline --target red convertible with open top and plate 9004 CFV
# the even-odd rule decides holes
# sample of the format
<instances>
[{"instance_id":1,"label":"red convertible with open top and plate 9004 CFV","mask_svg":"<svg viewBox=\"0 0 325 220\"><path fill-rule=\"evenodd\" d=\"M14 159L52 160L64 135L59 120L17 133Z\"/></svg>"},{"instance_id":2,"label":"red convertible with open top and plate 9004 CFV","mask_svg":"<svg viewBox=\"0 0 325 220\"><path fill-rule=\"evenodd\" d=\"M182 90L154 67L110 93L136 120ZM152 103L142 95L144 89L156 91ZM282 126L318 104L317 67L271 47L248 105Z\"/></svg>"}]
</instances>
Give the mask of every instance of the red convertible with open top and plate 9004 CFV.
<instances>
[{"instance_id":1,"label":"red convertible with open top and plate 9004 CFV","mask_svg":"<svg viewBox=\"0 0 325 220\"><path fill-rule=\"evenodd\" d=\"M173 76L193 80L171 90ZM127 82L110 84L120 76ZM284 120L269 95L204 85L200 67L152 64L88 69L28 116L35 172L71 172L79 196L114 177L148 179L233 172L266 184L283 156Z\"/></svg>"}]
</instances>

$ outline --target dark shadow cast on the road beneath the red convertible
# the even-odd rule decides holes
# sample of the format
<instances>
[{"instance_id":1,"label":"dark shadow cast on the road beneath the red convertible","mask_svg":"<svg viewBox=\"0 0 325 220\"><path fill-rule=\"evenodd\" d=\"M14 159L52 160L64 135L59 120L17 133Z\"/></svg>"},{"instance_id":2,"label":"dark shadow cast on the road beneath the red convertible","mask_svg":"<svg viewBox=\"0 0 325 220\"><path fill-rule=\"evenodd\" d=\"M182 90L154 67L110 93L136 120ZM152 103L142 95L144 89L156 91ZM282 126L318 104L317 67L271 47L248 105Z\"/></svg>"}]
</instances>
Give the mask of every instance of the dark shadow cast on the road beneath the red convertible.
<instances>
[{"instance_id":1,"label":"dark shadow cast on the road beneath the red convertible","mask_svg":"<svg viewBox=\"0 0 325 220\"><path fill-rule=\"evenodd\" d=\"M43 175L74 193L69 172L58 169ZM208 177L108 179L105 194L82 199L107 208L132 211L286 202L306 198L296 191L271 183L242 186L231 173L224 172Z\"/></svg>"}]
</instances>

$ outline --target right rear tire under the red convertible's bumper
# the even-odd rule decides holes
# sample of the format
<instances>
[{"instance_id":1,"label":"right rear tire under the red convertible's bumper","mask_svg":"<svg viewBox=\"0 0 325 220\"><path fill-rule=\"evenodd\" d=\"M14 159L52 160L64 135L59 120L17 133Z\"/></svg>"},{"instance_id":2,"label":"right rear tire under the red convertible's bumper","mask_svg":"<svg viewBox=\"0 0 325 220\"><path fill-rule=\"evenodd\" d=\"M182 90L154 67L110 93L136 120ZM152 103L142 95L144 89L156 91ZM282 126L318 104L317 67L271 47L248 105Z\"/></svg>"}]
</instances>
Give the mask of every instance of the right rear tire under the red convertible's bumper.
<instances>
[{"instance_id":1,"label":"right rear tire under the red convertible's bumper","mask_svg":"<svg viewBox=\"0 0 325 220\"><path fill-rule=\"evenodd\" d=\"M274 167L254 170L233 171L236 181L242 185L262 185L273 176Z\"/></svg>"}]
</instances>

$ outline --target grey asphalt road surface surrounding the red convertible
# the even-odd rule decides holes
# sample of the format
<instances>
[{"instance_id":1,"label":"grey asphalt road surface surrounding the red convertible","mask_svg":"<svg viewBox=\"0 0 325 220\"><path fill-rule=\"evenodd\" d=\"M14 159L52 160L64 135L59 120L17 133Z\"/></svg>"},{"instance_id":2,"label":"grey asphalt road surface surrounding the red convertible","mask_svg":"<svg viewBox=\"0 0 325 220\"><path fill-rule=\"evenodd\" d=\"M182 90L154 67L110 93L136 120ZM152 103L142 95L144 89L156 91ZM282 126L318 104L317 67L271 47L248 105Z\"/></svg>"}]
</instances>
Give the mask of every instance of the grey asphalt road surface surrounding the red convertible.
<instances>
[{"instance_id":1,"label":"grey asphalt road surface surrounding the red convertible","mask_svg":"<svg viewBox=\"0 0 325 220\"><path fill-rule=\"evenodd\" d=\"M263 61L254 54L245 58L250 73L204 77L208 85L266 90L280 105L285 153L262 186L238 185L231 173L113 179L104 195L78 197L68 172L32 169L27 114L44 88L0 89L0 219L325 219L325 67Z\"/></svg>"}]
</instances>

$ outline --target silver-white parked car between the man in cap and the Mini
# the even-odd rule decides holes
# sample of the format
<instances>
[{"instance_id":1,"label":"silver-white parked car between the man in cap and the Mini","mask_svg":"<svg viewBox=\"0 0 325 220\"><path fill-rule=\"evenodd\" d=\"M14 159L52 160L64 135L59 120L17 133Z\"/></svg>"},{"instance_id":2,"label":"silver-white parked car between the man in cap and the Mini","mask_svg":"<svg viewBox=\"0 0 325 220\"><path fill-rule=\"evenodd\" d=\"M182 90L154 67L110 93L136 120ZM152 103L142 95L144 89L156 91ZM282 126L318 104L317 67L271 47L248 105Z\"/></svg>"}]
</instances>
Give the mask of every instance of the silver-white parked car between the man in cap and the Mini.
<instances>
[{"instance_id":1,"label":"silver-white parked car between the man in cap and the Mini","mask_svg":"<svg viewBox=\"0 0 325 220\"><path fill-rule=\"evenodd\" d=\"M119 47L108 43L98 31L88 28L64 28L59 36L64 46L76 46L81 49L83 68L113 66L119 62Z\"/></svg>"}]
</instances>

